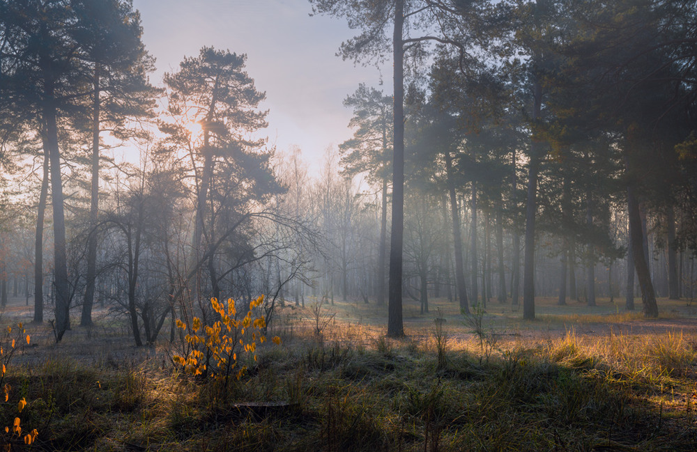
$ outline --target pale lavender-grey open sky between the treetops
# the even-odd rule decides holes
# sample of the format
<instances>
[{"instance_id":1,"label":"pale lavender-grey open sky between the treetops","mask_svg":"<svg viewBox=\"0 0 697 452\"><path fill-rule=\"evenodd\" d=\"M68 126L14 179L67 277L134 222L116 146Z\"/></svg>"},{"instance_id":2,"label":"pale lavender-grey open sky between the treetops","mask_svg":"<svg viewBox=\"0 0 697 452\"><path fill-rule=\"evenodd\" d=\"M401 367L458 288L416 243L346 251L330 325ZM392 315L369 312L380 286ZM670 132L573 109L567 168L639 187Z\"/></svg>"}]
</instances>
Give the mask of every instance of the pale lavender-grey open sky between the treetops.
<instances>
[{"instance_id":1,"label":"pale lavender-grey open sky between the treetops","mask_svg":"<svg viewBox=\"0 0 697 452\"><path fill-rule=\"evenodd\" d=\"M213 46L247 54L247 73L268 109L270 143L281 151L302 150L311 171L319 169L325 149L351 137L351 111L342 102L358 84L392 93L391 65L381 75L374 66L355 67L335 54L357 34L346 20L309 17L307 0L134 0L141 13L143 41L155 56L151 76L162 84L164 72L178 70L184 56Z\"/></svg>"}]
</instances>

